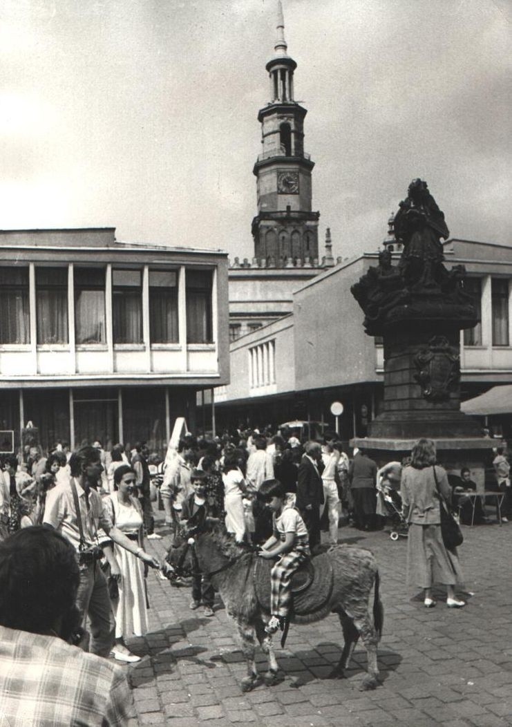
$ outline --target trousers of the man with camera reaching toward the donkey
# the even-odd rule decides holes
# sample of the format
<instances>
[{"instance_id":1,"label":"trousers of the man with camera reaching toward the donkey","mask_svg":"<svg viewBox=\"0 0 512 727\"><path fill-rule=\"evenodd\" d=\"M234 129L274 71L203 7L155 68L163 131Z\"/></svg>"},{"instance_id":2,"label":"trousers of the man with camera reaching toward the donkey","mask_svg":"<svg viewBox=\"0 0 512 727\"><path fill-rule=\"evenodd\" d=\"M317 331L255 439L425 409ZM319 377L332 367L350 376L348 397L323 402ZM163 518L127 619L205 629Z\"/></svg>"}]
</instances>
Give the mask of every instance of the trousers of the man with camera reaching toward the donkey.
<instances>
[{"instance_id":1,"label":"trousers of the man with camera reaching toward the donkey","mask_svg":"<svg viewBox=\"0 0 512 727\"><path fill-rule=\"evenodd\" d=\"M112 614L111 600L103 571L98 563L80 566L79 590L76 606L80 611L82 626L87 627L89 616L89 651L97 656L111 653L116 623Z\"/></svg>"}]
</instances>

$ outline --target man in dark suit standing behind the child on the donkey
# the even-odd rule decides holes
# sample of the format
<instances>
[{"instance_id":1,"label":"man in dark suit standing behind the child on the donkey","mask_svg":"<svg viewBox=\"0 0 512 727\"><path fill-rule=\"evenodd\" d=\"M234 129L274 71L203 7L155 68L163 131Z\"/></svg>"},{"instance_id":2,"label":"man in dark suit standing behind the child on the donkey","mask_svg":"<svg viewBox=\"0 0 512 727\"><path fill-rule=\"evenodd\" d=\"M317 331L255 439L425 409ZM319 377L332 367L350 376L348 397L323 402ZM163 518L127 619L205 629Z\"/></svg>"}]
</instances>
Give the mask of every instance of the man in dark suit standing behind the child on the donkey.
<instances>
[{"instance_id":1,"label":"man in dark suit standing behind the child on the donkey","mask_svg":"<svg viewBox=\"0 0 512 727\"><path fill-rule=\"evenodd\" d=\"M299 465L296 505L308 529L311 550L320 545L320 505L324 504L324 485L321 480L321 446L306 442L305 454Z\"/></svg>"}]
</instances>

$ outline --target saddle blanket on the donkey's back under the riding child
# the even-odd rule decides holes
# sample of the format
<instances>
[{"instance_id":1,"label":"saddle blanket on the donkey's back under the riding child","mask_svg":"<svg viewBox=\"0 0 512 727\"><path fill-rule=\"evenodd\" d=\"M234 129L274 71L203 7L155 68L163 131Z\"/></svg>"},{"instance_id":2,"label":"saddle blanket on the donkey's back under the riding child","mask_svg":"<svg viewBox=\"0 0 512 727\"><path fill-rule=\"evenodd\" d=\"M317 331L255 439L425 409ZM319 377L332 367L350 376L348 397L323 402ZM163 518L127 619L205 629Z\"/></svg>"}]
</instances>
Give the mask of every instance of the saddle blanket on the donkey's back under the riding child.
<instances>
[{"instance_id":1,"label":"saddle blanket on the donkey's back under the riding child","mask_svg":"<svg viewBox=\"0 0 512 727\"><path fill-rule=\"evenodd\" d=\"M274 561L256 558L255 590L257 601L264 611L271 610L271 569ZM305 578L313 571L309 584ZM293 612L305 616L319 611L332 593L332 565L327 553L305 561L292 577Z\"/></svg>"}]
</instances>

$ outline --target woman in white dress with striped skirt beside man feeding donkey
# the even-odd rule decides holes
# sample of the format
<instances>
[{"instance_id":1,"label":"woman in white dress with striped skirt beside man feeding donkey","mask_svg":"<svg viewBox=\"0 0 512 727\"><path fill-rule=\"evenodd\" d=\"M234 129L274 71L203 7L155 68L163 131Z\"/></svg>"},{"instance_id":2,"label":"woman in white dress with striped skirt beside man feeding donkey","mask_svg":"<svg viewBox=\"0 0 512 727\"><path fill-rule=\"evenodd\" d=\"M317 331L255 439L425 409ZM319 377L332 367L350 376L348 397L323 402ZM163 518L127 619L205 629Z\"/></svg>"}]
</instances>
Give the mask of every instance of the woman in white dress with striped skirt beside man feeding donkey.
<instances>
[{"instance_id":1,"label":"woman in white dress with striped skirt beside man feeding donkey","mask_svg":"<svg viewBox=\"0 0 512 727\"><path fill-rule=\"evenodd\" d=\"M135 471L129 465L117 467L113 473L114 491L105 497L105 509L113 525L143 549L143 510L135 491ZM148 632L144 565L136 555L113 543L113 553L105 553L112 576L118 582L119 598L112 598L116 616L116 643L113 655L121 662L138 662L124 643L125 636L143 636ZM108 550L108 549L107 549ZM112 558L113 555L113 558Z\"/></svg>"}]
</instances>

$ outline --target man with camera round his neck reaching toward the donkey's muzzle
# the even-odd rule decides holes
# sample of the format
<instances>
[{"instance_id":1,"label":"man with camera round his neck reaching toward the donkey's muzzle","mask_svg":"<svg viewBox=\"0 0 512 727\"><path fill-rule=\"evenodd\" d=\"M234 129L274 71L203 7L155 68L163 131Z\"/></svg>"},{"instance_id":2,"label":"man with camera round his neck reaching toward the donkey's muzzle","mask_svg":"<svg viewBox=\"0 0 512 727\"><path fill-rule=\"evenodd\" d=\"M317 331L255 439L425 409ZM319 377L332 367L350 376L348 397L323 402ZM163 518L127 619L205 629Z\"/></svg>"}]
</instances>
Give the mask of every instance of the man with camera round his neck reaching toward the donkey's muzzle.
<instances>
[{"instance_id":1,"label":"man with camera round his neck reaching toward the donkey's muzzle","mask_svg":"<svg viewBox=\"0 0 512 727\"><path fill-rule=\"evenodd\" d=\"M103 529L113 542L149 566L159 568L159 562L113 526L105 512L101 496L95 489L102 471L100 452L92 446L82 446L71 455L69 466L70 481L55 486L47 494L43 524L60 532L76 550L80 569L76 605L84 625L89 616L89 650L98 656L108 656L113 646L115 624L107 582L98 563L103 551L97 531Z\"/></svg>"}]
</instances>

